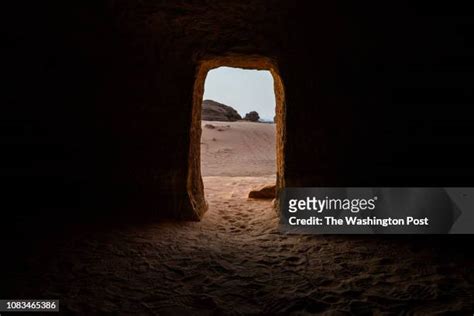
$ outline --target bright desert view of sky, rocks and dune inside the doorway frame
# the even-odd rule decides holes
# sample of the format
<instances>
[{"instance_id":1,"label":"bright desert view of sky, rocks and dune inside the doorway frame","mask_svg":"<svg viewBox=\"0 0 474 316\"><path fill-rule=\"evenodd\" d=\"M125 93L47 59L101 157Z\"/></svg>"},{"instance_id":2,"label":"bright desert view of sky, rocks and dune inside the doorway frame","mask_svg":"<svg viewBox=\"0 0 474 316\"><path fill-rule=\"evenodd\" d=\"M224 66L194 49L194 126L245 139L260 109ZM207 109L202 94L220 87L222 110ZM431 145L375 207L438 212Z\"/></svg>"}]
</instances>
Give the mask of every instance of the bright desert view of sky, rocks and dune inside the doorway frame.
<instances>
[{"instance_id":1,"label":"bright desert view of sky, rocks and dune inside the doorway frame","mask_svg":"<svg viewBox=\"0 0 474 316\"><path fill-rule=\"evenodd\" d=\"M274 117L268 70L211 69L201 111L202 177L275 176Z\"/></svg>"}]
</instances>

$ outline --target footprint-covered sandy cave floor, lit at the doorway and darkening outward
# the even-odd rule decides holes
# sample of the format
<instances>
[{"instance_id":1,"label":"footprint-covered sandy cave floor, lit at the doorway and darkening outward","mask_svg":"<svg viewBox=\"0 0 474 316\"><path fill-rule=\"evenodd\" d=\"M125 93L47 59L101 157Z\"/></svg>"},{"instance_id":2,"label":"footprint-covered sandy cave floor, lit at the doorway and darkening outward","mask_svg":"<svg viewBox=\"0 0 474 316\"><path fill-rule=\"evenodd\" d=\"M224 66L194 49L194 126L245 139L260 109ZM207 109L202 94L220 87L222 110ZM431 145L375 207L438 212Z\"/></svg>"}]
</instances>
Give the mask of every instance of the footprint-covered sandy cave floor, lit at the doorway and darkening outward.
<instances>
[{"instance_id":1,"label":"footprint-covered sandy cave floor, lit at the doorway and darkening outward","mask_svg":"<svg viewBox=\"0 0 474 316\"><path fill-rule=\"evenodd\" d=\"M472 258L433 236L281 234L272 202L246 198L271 181L205 177L201 222L81 230L10 277L80 314L472 311Z\"/></svg>"}]
</instances>

